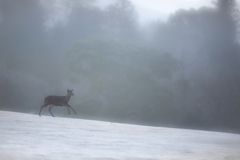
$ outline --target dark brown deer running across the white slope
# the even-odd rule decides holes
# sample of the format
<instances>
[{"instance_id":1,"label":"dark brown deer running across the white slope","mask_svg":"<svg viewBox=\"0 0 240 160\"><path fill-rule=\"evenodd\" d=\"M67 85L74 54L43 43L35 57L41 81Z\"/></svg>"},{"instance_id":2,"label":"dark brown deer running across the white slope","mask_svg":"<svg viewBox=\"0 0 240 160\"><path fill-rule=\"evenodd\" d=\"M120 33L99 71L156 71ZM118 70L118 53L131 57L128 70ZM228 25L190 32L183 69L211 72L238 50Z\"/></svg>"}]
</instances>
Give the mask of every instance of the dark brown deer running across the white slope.
<instances>
[{"instance_id":1,"label":"dark brown deer running across the white slope","mask_svg":"<svg viewBox=\"0 0 240 160\"><path fill-rule=\"evenodd\" d=\"M39 116L41 117L41 110L44 107L47 107L49 105L50 105L50 107L49 107L48 111L53 117L54 117L54 115L51 112L51 109L53 108L53 106L66 106L68 108L68 114L70 114L69 108L71 108L73 110L73 112L76 114L74 109L68 104L71 96L74 96L74 94L72 92L73 92L73 89L72 90L68 89L66 96L47 96L44 99L44 104L40 108Z\"/></svg>"}]
</instances>

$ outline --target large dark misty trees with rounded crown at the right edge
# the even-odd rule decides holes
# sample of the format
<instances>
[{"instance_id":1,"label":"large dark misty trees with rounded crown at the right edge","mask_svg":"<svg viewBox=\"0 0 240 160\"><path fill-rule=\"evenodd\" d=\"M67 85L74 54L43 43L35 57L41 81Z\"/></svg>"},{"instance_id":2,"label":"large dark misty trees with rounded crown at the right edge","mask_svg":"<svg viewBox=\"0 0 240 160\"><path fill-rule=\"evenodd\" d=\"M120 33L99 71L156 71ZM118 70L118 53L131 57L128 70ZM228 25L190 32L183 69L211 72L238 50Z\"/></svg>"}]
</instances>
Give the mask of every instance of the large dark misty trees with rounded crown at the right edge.
<instances>
[{"instance_id":1,"label":"large dark misty trees with rounded crown at the right edge","mask_svg":"<svg viewBox=\"0 0 240 160\"><path fill-rule=\"evenodd\" d=\"M235 128L240 120L236 8L235 0L217 0L215 8L179 10L156 29L153 42L179 59L176 80L188 83L175 86L184 123Z\"/></svg>"}]
</instances>

